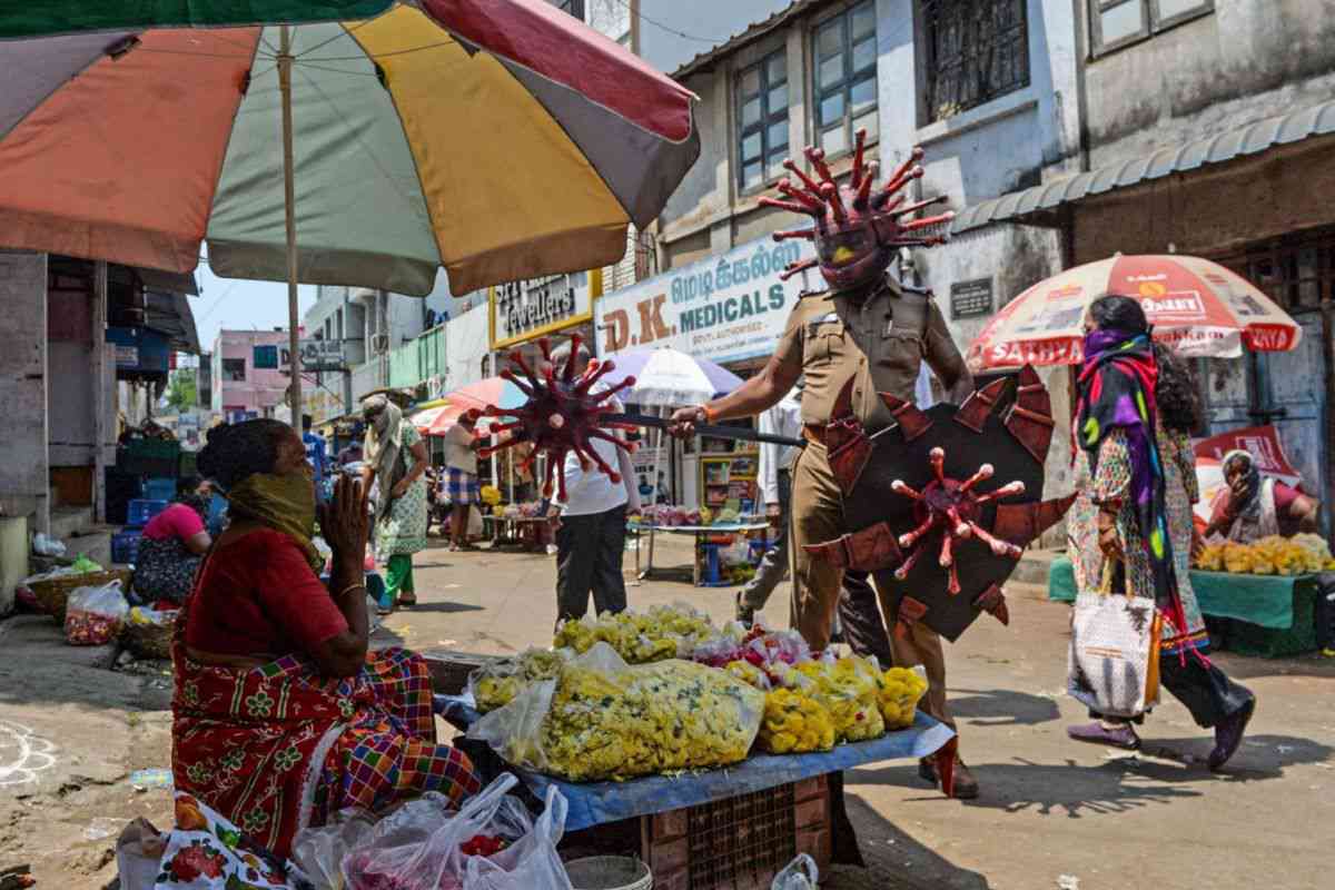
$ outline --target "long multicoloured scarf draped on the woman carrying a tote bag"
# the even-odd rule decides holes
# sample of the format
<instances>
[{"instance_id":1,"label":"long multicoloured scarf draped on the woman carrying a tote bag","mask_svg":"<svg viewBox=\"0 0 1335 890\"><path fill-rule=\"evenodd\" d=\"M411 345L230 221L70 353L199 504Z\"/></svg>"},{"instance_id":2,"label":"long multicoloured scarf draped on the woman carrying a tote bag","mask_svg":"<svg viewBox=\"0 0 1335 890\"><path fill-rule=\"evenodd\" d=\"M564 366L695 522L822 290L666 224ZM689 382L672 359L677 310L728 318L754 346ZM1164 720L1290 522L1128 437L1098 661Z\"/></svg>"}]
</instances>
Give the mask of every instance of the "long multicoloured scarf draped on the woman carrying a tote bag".
<instances>
[{"instance_id":1,"label":"long multicoloured scarf draped on the woman carrying a tote bag","mask_svg":"<svg viewBox=\"0 0 1335 890\"><path fill-rule=\"evenodd\" d=\"M1155 439L1157 380L1159 366L1149 331L1091 331L1084 339L1084 367L1079 378L1076 438L1089 455L1092 474L1097 470L1104 438L1113 430L1127 436L1131 500L1149 558L1155 604L1172 622L1176 634L1185 634L1187 616L1177 595L1168 535L1164 468Z\"/></svg>"}]
</instances>

